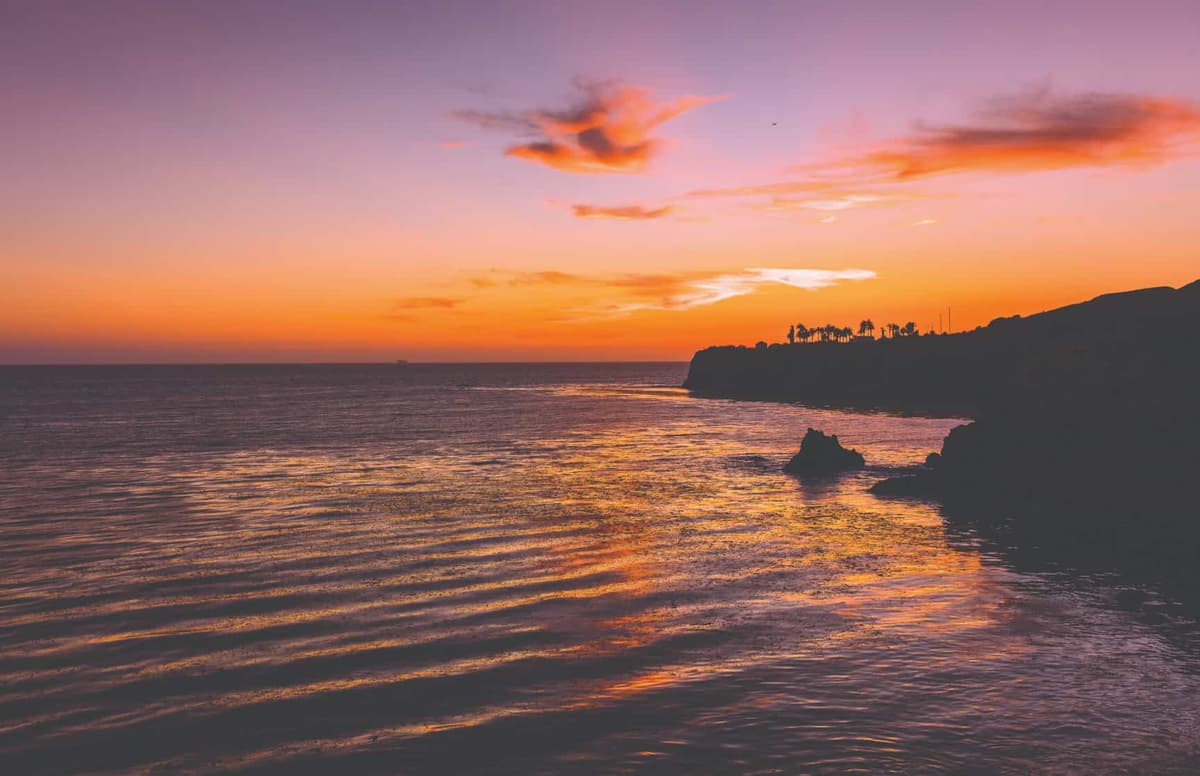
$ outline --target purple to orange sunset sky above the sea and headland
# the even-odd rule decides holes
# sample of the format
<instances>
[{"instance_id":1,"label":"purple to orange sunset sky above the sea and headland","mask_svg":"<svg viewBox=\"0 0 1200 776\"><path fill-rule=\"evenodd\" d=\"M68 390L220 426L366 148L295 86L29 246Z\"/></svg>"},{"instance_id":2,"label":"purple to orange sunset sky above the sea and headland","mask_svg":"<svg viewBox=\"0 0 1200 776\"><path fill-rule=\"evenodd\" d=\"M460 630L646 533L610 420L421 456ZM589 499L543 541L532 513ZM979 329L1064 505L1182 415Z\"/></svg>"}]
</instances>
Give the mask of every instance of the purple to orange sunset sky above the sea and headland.
<instances>
[{"instance_id":1,"label":"purple to orange sunset sky above the sea and headland","mask_svg":"<svg viewBox=\"0 0 1200 776\"><path fill-rule=\"evenodd\" d=\"M1198 73L1195 0L0 0L0 362L685 360L1177 287Z\"/></svg>"}]
</instances>

